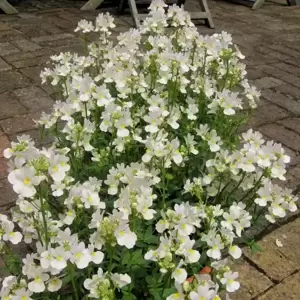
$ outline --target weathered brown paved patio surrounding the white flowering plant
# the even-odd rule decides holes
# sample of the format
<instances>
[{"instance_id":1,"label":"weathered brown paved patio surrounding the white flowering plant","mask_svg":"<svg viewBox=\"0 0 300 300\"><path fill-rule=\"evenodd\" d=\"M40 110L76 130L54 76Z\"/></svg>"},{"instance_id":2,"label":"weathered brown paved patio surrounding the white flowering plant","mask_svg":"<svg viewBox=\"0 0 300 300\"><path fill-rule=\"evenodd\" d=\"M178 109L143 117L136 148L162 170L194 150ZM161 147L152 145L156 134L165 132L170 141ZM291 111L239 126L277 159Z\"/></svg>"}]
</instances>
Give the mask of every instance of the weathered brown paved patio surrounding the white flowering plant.
<instances>
[{"instance_id":1,"label":"weathered brown paved patio surrounding the white flowering plant","mask_svg":"<svg viewBox=\"0 0 300 300\"><path fill-rule=\"evenodd\" d=\"M41 85L39 73L49 56L61 51L81 52L82 41L73 32L76 23L93 20L96 12L82 12L83 2L30 1L17 6L19 15L0 14L0 206L14 200L6 180L3 149L20 133L38 137L33 119L49 110L55 94ZM57 7L60 8L57 8ZM187 3L193 9L193 2ZM258 11L233 2L209 2L215 30L203 24L203 34L228 31L246 55L248 78L262 90L260 106L251 126L267 138L282 143L292 157L286 186L300 179L300 7L267 2ZM130 15L118 16L115 34L132 26ZM1 207L0 207L1 212ZM290 221L290 222L289 222ZM236 300L300 299L300 218L264 236L264 250L245 249L237 266L242 282ZM279 239L283 247L275 241Z\"/></svg>"}]
</instances>

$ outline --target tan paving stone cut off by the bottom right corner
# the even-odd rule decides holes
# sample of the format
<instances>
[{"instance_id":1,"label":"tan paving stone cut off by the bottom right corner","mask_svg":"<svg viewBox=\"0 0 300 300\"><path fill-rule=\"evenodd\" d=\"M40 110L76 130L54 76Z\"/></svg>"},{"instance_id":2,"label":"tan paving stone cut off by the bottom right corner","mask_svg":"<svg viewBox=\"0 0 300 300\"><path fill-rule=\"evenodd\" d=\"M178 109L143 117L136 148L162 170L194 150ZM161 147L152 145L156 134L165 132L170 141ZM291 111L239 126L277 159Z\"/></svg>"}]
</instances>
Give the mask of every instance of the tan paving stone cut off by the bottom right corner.
<instances>
[{"instance_id":1,"label":"tan paving stone cut off by the bottom right corner","mask_svg":"<svg viewBox=\"0 0 300 300\"><path fill-rule=\"evenodd\" d=\"M299 300L300 272L286 278L258 300Z\"/></svg>"}]
</instances>

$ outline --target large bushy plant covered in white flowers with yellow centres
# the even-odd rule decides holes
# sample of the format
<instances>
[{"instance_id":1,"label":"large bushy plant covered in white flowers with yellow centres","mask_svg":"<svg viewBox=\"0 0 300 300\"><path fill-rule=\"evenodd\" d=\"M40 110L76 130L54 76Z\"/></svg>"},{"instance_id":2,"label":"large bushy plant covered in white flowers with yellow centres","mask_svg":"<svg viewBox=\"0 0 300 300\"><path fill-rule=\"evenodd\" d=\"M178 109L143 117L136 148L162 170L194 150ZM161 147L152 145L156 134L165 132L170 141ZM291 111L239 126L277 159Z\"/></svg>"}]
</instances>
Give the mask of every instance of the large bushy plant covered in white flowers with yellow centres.
<instances>
[{"instance_id":1,"label":"large bushy plant covered in white flowers with yellow centres","mask_svg":"<svg viewBox=\"0 0 300 300\"><path fill-rule=\"evenodd\" d=\"M272 183L285 179L282 146L238 134L259 92L231 36L165 8L153 1L116 43L110 15L80 21L99 40L42 72L61 93L38 121L55 141L4 151L18 200L12 221L0 215L1 255L28 251L7 263L1 299L218 300L240 286L226 260L241 256L237 238L296 210Z\"/></svg>"}]
</instances>

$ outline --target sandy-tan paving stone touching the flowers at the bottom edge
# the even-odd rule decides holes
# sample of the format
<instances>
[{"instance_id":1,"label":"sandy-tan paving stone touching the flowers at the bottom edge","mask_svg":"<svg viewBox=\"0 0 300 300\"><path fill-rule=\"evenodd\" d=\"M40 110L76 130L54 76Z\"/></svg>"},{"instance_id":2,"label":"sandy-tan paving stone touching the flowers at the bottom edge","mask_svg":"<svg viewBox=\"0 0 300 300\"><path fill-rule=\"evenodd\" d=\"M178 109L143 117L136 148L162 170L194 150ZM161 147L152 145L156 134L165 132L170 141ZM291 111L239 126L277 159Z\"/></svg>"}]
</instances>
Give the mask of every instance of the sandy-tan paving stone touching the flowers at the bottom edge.
<instances>
[{"instance_id":1,"label":"sandy-tan paving stone touching the flowers at the bottom edge","mask_svg":"<svg viewBox=\"0 0 300 300\"><path fill-rule=\"evenodd\" d=\"M230 295L232 300L250 300L263 293L273 282L243 259L232 266L239 273L240 289Z\"/></svg>"}]
</instances>

